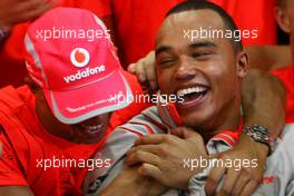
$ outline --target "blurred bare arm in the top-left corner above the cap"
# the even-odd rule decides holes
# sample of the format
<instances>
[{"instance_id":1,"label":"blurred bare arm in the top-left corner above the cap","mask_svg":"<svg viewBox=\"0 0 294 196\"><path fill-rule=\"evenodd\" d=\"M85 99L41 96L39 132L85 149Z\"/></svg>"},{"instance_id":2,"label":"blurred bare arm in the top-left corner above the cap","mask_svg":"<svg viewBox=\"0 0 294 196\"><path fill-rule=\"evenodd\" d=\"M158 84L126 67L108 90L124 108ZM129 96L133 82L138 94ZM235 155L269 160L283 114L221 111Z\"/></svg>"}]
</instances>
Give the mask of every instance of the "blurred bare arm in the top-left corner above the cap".
<instances>
[{"instance_id":1,"label":"blurred bare arm in the top-left corner above the cap","mask_svg":"<svg viewBox=\"0 0 294 196\"><path fill-rule=\"evenodd\" d=\"M0 27L12 27L35 19L55 4L57 0L1 0Z\"/></svg>"}]
</instances>

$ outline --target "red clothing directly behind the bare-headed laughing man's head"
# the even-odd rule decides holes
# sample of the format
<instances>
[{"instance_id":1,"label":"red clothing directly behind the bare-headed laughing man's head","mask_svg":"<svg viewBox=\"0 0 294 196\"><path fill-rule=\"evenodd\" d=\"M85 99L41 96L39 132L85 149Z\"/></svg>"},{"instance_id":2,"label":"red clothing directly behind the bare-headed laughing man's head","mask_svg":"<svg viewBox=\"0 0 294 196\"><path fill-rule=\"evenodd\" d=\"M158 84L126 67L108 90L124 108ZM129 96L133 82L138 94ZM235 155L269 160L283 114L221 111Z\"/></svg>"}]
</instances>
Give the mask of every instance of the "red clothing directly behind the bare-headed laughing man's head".
<instances>
[{"instance_id":1,"label":"red clothing directly behind the bare-headed laughing man's head","mask_svg":"<svg viewBox=\"0 0 294 196\"><path fill-rule=\"evenodd\" d=\"M104 0L101 0L104 1ZM114 0L118 45L124 66L136 62L153 48L157 29L167 11L184 0ZM274 0L212 0L222 6L236 20L242 30L258 30L257 39L246 39L245 45L275 43Z\"/></svg>"}]
</instances>

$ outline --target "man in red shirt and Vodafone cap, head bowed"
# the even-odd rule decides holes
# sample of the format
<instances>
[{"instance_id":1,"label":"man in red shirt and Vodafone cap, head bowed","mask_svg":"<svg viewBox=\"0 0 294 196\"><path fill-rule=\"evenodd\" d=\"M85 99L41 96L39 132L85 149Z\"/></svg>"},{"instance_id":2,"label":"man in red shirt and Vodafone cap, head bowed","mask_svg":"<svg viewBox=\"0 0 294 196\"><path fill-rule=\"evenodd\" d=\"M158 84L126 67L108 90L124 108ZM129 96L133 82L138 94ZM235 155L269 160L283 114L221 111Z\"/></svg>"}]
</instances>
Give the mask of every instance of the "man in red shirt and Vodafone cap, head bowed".
<instances>
[{"instance_id":1,"label":"man in red shirt and Vodafone cap, head bowed","mask_svg":"<svg viewBox=\"0 0 294 196\"><path fill-rule=\"evenodd\" d=\"M117 125L146 105L126 111L130 102L110 99L130 98L131 89L141 88L122 70L109 38L38 38L38 31L55 28L107 31L94 13L74 8L51 9L30 24L28 85L0 89L1 196L81 195L87 170L111 164L92 155Z\"/></svg>"}]
</instances>

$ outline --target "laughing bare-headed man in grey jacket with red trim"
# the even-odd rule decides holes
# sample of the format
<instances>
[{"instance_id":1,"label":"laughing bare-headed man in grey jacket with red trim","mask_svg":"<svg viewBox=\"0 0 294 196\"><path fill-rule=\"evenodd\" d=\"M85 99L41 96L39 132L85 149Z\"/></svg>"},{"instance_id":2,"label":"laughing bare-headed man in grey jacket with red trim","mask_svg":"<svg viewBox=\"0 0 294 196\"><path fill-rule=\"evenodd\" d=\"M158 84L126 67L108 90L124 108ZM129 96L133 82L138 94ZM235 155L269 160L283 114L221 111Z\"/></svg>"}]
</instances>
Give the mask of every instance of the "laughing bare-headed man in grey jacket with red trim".
<instances>
[{"instance_id":1,"label":"laughing bare-headed man in grey jacket with red trim","mask_svg":"<svg viewBox=\"0 0 294 196\"><path fill-rule=\"evenodd\" d=\"M206 179L214 165L202 167L195 163L202 159L215 163L218 160L214 158L216 154L229 150L237 143L243 124L241 89L248 71L248 57L243 51L242 42L234 41L233 38L185 38L185 30L199 28L237 30L232 18L213 3L190 1L169 11L156 39L158 85L160 95L177 95L183 97L184 101L168 106L158 104L114 131L107 140L107 149L99 151L99 156L115 160L114 167L110 170L105 168L88 174L88 194L126 195L135 192L139 193L138 195L149 195L156 186L148 184L153 178L165 187L175 189L165 193L166 189L163 188L150 195L205 195ZM245 128L245 133L255 135L254 138L258 140L256 135L264 137L265 129L264 126L254 126ZM282 196L293 192L290 186L293 180L293 154L290 149L293 146L291 138L294 131L287 131L291 129L293 125L285 127L284 141L278 141L275 153L267 159L265 179L273 180L262 182L256 195ZM135 147L128 151L137 138L148 133L157 135L138 139ZM134 166L135 170L139 165L139 173L145 176L147 183L134 180L136 171L120 174L124 169L120 160L126 153L127 165ZM256 160L243 158L239 161L247 167L256 167ZM218 169L217 173L217 176L223 176L225 170ZM233 195L251 195L258 185L257 179L239 173L235 176L238 180L228 184L225 179L231 173L237 170L228 170L220 180L226 190L233 190ZM119 176L112 182L117 175ZM124 190L122 187L131 187L131 180L137 187ZM217 185L218 183L215 182ZM120 189L117 188L119 186ZM147 188L140 189L144 186ZM214 193L209 187L206 187L206 190Z\"/></svg>"}]
</instances>

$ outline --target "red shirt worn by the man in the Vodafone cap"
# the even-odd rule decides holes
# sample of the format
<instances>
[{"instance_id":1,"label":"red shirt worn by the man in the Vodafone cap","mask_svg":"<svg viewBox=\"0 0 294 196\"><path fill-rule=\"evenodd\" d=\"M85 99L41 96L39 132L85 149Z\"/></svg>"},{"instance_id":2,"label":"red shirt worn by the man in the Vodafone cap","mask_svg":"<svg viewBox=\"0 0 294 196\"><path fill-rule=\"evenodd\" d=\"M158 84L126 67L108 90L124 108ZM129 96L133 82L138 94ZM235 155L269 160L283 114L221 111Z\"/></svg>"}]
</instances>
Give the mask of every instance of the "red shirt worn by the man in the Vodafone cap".
<instances>
[{"instance_id":1,"label":"red shirt worn by the man in the Vodafone cap","mask_svg":"<svg viewBox=\"0 0 294 196\"><path fill-rule=\"evenodd\" d=\"M136 82L134 76L129 81ZM139 91L140 86L134 91ZM12 95L12 96L11 96ZM38 122L35 97L27 86L17 90L7 87L0 90L0 125L4 131L0 135L3 146L0 159L1 186L29 186L38 195L81 195L81 185L87 168L58 167L43 170L38 160L89 159L102 145L107 135L118 125L144 109L146 104L136 105L114 112L104 139L98 144L74 144L47 133ZM11 106L8 110L7 105ZM137 107L138 106L138 107ZM126 111L126 112L125 112Z\"/></svg>"}]
</instances>

